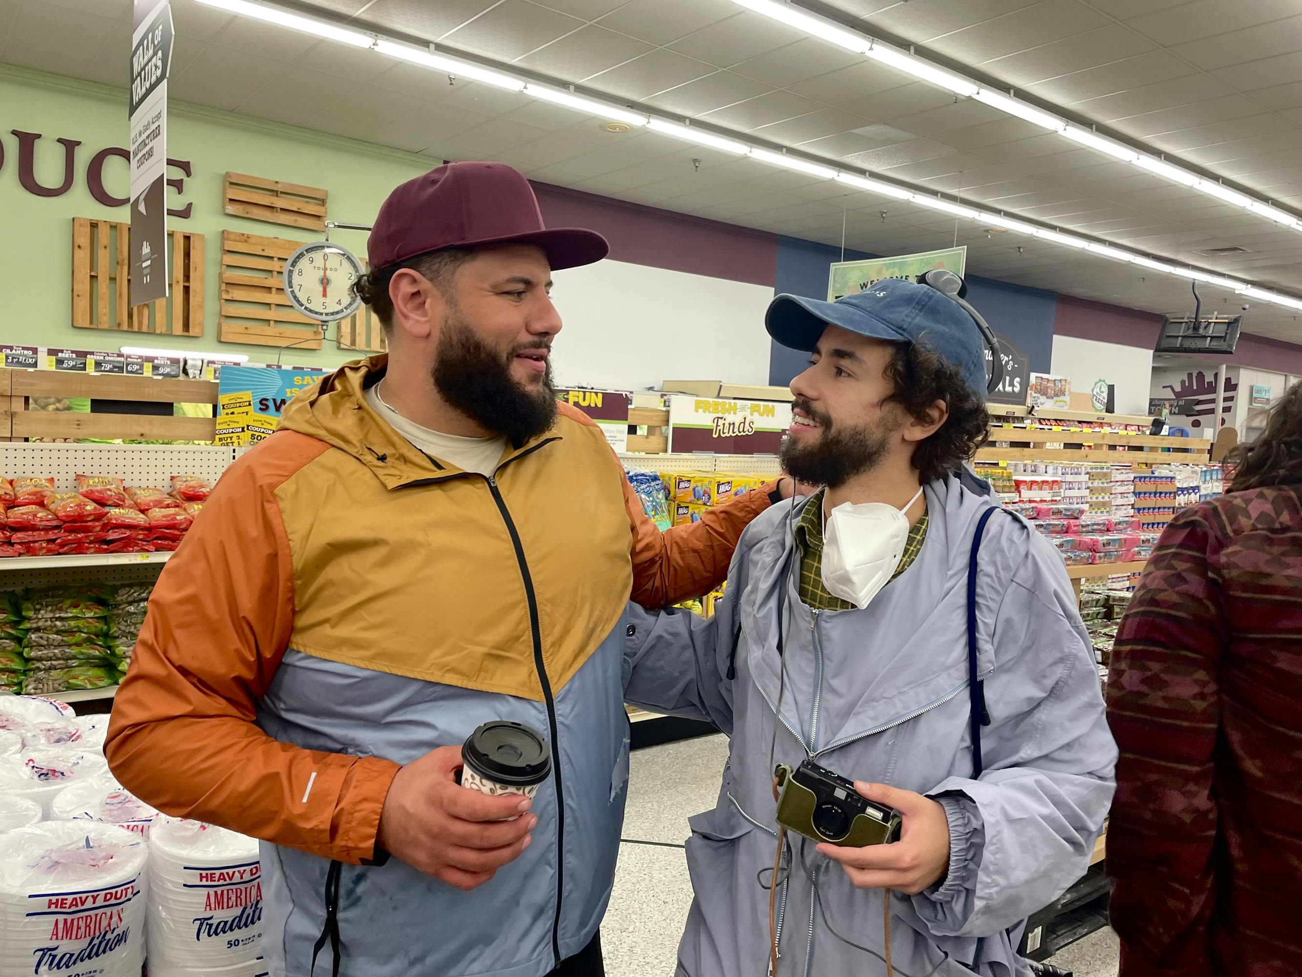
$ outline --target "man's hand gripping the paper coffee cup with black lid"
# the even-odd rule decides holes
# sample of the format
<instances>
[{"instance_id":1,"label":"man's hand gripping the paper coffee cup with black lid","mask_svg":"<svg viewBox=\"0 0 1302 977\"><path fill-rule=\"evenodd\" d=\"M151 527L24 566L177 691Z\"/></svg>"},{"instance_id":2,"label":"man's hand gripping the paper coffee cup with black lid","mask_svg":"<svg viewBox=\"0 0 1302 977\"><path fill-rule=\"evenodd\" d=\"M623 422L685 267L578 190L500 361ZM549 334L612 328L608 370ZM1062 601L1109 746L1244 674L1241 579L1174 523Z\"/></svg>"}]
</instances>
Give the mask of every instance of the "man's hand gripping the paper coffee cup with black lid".
<instances>
[{"instance_id":1,"label":"man's hand gripping the paper coffee cup with black lid","mask_svg":"<svg viewBox=\"0 0 1302 977\"><path fill-rule=\"evenodd\" d=\"M490 797L456 780L461 746L402 767L380 814L380 844L414 869L469 891L529 847L538 817L518 795ZM513 818L506 821L506 818Z\"/></svg>"}]
</instances>

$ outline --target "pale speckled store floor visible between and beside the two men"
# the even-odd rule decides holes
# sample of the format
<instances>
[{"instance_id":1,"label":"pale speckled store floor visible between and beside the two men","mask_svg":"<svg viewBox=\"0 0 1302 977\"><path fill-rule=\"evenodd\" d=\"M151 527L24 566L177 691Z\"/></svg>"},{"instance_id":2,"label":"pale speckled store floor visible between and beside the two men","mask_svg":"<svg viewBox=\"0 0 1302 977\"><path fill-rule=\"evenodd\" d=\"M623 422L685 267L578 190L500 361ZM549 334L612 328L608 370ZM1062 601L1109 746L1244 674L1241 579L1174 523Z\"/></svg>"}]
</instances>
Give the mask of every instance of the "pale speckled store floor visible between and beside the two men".
<instances>
[{"instance_id":1,"label":"pale speckled store floor visible between and beside the two men","mask_svg":"<svg viewBox=\"0 0 1302 977\"><path fill-rule=\"evenodd\" d=\"M678 845L689 835L687 817L715 805L727 756L723 736L633 753L626 840L620 845L615 894L602 924L608 977L673 974L678 935L691 904L691 882ZM1116 977L1116 935L1100 930L1051 963L1074 977Z\"/></svg>"}]
</instances>

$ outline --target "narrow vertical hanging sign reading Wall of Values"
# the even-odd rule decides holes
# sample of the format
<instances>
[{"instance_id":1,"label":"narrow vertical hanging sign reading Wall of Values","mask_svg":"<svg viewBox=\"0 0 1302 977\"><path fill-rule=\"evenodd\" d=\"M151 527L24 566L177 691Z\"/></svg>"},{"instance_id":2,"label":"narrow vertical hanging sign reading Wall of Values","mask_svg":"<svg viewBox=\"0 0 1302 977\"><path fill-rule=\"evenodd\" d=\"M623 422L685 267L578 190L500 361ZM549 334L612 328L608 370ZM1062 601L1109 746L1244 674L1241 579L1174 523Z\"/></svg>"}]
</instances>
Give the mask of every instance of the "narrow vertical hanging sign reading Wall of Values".
<instances>
[{"instance_id":1,"label":"narrow vertical hanging sign reading Wall of Values","mask_svg":"<svg viewBox=\"0 0 1302 977\"><path fill-rule=\"evenodd\" d=\"M135 0L132 18L132 305L167 298L168 0Z\"/></svg>"}]
</instances>

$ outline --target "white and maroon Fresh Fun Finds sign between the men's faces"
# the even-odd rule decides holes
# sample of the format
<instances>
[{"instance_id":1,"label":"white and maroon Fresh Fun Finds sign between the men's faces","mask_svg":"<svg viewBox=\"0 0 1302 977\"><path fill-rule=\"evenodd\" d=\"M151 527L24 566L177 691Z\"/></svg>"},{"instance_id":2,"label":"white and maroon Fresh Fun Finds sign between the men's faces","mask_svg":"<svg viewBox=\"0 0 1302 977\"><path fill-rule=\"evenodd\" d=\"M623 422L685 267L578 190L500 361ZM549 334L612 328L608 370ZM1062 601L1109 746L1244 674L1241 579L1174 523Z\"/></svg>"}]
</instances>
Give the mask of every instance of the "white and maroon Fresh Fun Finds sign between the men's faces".
<instances>
[{"instance_id":1,"label":"white and maroon Fresh Fun Finds sign between the men's faces","mask_svg":"<svg viewBox=\"0 0 1302 977\"><path fill-rule=\"evenodd\" d=\"M669 451L776 455L792 426L792 405L773 400L669 397Z\"/></svg>"}]
</instances>

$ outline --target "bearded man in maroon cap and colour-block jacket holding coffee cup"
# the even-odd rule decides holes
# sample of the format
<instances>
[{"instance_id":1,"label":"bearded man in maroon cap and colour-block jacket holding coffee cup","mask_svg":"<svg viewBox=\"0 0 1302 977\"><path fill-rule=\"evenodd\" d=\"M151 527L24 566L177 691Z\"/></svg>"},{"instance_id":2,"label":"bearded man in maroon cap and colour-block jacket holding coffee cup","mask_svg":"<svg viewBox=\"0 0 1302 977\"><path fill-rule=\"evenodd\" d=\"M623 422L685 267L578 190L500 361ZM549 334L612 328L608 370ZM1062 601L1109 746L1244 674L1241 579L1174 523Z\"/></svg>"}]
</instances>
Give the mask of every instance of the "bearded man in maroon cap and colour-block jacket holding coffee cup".
<instances>
[{"instance_id":1,"label":"bearded man in maroon cap and colour-block jacket holding coffee cup","mask_svg":"<svg viewBox=\"0 0 1302 977\"><path fill-rule=\"evenodd\" d=\"M268 843L272 973L311 974L328 942L333 973L595 977L630 594L711 590L779 490L663 534L647 518L551 384L552 271L607 244L544 227L510 167L404 184L368 250L357 292L389 353L294 397L221 479L155 590L115 770ZM503 744L491 795L458 778L493 720L544 749Z\"/></svg>"}]
</instances>

